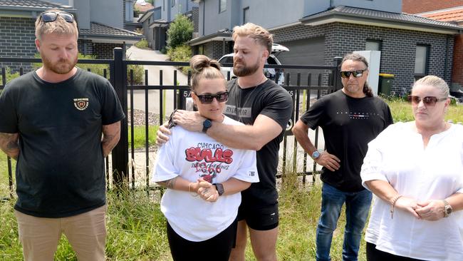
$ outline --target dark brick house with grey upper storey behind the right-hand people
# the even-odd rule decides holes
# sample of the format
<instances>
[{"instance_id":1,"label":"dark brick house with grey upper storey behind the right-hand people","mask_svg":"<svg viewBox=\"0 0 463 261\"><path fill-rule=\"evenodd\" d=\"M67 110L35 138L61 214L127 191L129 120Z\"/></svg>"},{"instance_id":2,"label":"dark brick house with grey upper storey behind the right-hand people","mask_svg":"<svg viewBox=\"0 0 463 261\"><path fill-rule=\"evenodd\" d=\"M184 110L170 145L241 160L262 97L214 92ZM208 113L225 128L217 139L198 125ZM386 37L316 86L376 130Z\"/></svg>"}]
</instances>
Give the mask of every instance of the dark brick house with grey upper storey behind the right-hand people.
<instances>
[{"instance_id":1,"label":"dark brick house with grey upper storey behind the right-hand people","mask_svg":"<svg viewBox=\"0 0 463 261\"><path fill-rule=\"evenodd\" d=\"M396 95L406 93L426 74L450 82L454 36L463 30L456 24L404 14L401 0L192 1L199 4L199 36L189 41L195 54L220 58L231 52L233 27L252 22L289 48L278 56L283 64L330 66L335 56L351 51L381 51L380 73L395 75ZM295 78L291 77L292 84ZM323 83L327 81L324 75Z\"/></svg>"}]
</instances>

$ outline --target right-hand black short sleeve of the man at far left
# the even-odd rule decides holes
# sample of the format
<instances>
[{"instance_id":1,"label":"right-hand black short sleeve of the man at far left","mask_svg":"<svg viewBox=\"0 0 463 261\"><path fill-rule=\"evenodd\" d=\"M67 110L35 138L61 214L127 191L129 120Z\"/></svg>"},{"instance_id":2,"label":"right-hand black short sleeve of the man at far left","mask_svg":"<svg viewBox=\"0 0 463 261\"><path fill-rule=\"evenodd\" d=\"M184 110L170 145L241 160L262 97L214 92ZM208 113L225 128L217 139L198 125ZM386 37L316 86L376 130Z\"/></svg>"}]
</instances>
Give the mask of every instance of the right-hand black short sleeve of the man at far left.
<instances>
[{"instance_id":1,"label":"right-hand black short sleeve of the man at far left","mask_svg":"<svg viewBox=\"0 0 463 261\"><path fill-rule=\"evenodd\" d=\"M103 125L110 125L125 118L118 95L108 80L105 80L103 96L104 103L101 109Z\"/></svg>"}]
</instances>

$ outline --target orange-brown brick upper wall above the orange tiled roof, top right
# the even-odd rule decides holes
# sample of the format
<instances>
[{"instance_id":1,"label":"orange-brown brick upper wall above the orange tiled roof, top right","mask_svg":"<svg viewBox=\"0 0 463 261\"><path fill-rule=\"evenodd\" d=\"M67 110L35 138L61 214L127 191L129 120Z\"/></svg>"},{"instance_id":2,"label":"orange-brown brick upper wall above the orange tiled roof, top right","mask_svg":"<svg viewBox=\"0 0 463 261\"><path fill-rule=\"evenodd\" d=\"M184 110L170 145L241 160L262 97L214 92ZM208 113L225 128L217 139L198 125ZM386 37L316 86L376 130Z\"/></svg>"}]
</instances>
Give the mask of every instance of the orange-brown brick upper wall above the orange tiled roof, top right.
<instances>
[{"instance_id":1,"label":"orange-brown brick upper wall above the orange tiled roof, top right","mask_svg":"<svg viewBox=\"0 0 463 261\"><path fill-rule=\"evenodd\" d=\"M439 9L463 6L463 0L402 0L402 11L417 14Z\"/></svg>"}]
</instances>

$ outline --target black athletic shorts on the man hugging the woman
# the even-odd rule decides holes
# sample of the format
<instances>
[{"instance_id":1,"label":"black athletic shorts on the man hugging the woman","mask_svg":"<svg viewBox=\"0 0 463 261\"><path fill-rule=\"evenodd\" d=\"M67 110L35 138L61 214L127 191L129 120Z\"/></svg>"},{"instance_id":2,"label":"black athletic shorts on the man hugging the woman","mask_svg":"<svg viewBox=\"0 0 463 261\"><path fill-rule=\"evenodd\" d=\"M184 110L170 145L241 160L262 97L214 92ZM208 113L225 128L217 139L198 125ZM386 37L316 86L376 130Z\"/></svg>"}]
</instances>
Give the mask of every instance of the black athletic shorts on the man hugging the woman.
<instances>
[{"instance_id":1,"label":"black athletic shorts on the man hugging the woman","mask_svg":"<svg viewBox=\"0 0 463 261\"><path fill-rule=\"evenodd\" d=\"M238 208L238 221L246 220L248 227L253 230L272 230L278 227L278 203L264 208L252 208L241 204Z\"/></svg>"}]
</instances>

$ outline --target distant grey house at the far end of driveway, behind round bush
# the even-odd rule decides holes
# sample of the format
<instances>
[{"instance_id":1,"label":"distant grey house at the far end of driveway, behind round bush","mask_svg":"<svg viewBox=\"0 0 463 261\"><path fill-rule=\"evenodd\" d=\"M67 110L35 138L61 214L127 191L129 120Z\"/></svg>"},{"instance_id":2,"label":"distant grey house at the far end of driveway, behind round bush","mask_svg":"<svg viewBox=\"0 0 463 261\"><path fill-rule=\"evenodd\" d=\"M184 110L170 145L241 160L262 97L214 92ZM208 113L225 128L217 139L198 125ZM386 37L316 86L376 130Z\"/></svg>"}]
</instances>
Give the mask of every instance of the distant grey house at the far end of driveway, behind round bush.
<instances>
[{"instance_id":1,"label":"distant grey house at the far end of driveway, behind round bush","mask_svg":"<svg viewBox=\"0 0 463 261\"><path fill-rule=\"evenodd\" d=\"M166 46L167 29L177 14L184 14L192 20L197 32L198 5L190 0L155 0L152 9L145 11L138 22L143 26L143 34L154 50Z\"/></svg>"}]
</instances>

